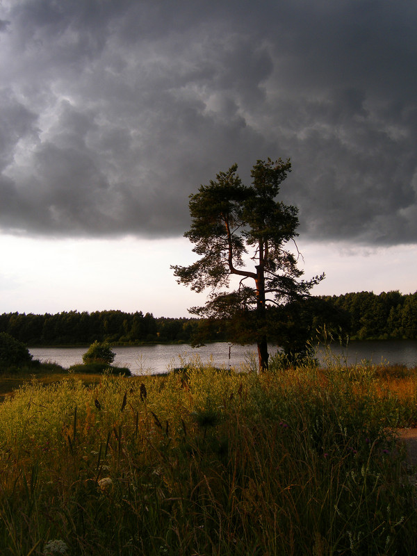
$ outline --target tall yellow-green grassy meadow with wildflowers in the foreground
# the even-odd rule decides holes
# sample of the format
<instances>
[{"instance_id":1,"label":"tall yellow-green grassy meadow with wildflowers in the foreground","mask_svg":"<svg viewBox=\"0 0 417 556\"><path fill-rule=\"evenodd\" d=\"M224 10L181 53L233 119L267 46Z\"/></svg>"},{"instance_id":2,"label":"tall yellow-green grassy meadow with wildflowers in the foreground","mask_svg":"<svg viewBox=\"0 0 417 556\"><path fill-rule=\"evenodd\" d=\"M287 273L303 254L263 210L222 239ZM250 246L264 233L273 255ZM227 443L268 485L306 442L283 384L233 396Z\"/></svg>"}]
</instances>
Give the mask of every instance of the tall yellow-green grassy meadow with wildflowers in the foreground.
<instances>
[{"instance_id":1,"label":"tall yellow-green grassy meadow with wildflowers in the foreground","mask_svg":"<svg viewBox=\"0 0 417 556\"><path fill-rule=\"evenodd\" d=\"M1 555L415 554L417 371L271 367L3 377Z\"/></svg>"}]
</instances>

